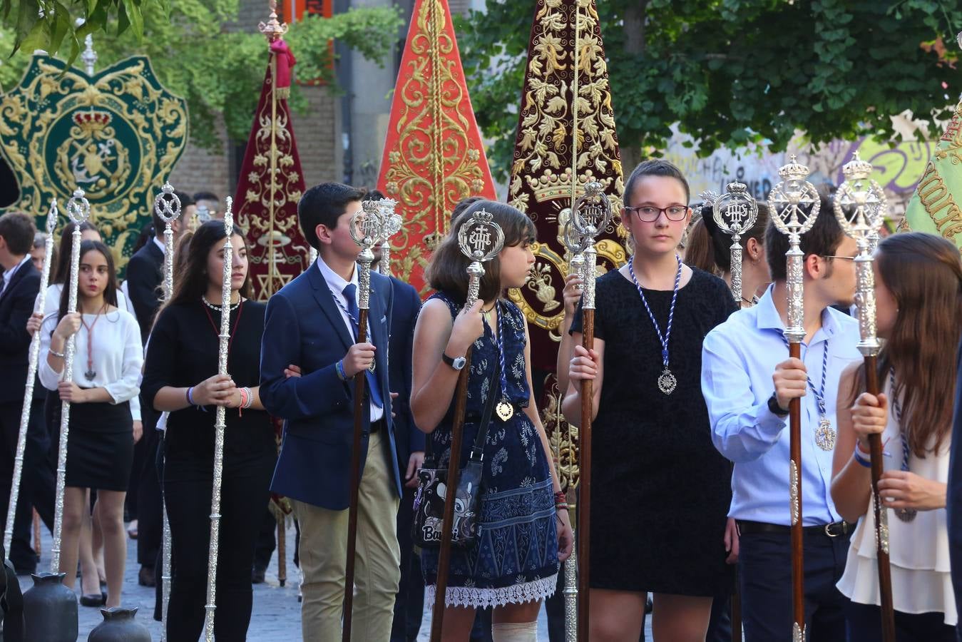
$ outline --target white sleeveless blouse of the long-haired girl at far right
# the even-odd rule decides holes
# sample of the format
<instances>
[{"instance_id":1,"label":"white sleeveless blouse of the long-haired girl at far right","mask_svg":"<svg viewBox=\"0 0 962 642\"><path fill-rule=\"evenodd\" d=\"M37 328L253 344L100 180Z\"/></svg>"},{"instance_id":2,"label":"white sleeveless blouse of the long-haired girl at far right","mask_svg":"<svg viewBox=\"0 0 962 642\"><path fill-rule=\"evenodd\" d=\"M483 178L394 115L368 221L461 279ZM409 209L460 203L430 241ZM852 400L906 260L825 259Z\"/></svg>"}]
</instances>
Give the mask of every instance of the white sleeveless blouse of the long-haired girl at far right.
<instances>
[{"instance_id":1,"label":"white sleeveless blouse of the long-haired girl at far right","mask_svg":"<svg viewBox=\"0 0 962 642\"><path fill-rule=\"evenodd\" d=\"M886 382L885 394L892 398ZM899 425L889 410L889 423L882 433L886 471L901 470L902 438ZM949 481L950 435L939 452L929 450L924 459L909 454L909 471L942 483ZM946 625L958 621L955 594L949 574L949 527L946 509L920 510L911 522L902 522L892 508L886 508L889 523L889 556L892 567L892 599L903 613L944 613ZM879 605L878 570L875 564L875 517L872 499L851 536L845 573L839 590L852 602Z\"/></svg>"}]
</instances>

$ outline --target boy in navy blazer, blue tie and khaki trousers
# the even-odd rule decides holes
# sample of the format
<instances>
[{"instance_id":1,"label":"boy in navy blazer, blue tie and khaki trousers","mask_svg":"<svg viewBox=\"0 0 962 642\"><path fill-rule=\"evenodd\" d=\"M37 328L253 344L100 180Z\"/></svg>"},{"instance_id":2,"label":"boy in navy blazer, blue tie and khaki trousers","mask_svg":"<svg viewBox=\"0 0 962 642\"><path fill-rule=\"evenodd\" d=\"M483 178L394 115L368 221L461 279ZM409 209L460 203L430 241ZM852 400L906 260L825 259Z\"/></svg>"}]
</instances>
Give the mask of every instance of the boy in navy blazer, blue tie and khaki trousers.
<instances>
[{"instance_id":1,"label":"boy in navy blazer, blue tie and khaki trousers","mask_svg":"<svg viewBox=\"0 0 962 642\"><path fill-rule=\"evenodd\" d=\"M317 262L267 302L261 347L261 399L285 420L271 490L291 500L301 529L304 640L341 638L353 376L365 372L367 410L361 452L352 639L391 634L400 553L395 517L402 493L391 414L388 336L391 281L371 274L368 343L357 337L360 248L349 233L362 194L339 183L308 190L297 218ZM302 375L288 378L297 364Z\"/></svg>"}]
</instances>

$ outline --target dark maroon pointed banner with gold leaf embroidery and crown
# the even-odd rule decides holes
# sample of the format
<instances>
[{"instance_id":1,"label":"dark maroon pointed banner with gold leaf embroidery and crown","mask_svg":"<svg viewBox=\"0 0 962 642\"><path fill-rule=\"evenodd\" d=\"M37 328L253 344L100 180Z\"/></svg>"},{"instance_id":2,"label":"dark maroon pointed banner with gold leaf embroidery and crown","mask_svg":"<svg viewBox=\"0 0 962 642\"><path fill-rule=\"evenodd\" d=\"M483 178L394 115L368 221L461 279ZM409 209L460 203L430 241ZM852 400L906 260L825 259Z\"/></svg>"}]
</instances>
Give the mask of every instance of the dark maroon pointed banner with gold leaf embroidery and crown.
<instances>
[{"instance_id":1,"label":"dark maroon pointed banner with gold leaf embroidery and crown","mask_svg":"<svg viewBox=\"0 0 962 642\"><path fill-rule=\"evenodd\" d=\"M577 24L577 29L575 25ZM531 333L531 367L544 378L542 421L562 484L577 479L577 431L561 417L553 372L568 275L565 223L574 200L597 181L620 212L623 183L604 45L594 0L538 0L521 90L509 202L535 221L534 274L512 290ZM611 225L597 240L598 273L627 260Z\"/></svg>"}]
</instances>

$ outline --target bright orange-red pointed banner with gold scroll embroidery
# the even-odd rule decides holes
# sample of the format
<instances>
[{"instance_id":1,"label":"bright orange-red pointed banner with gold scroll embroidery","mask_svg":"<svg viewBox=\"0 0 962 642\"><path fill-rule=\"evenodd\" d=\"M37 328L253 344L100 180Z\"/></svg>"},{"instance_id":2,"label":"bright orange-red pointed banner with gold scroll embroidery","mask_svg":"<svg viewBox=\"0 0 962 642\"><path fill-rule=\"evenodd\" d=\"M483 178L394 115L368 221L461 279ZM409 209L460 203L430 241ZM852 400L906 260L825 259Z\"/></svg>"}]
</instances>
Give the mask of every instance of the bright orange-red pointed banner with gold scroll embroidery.
<instances>
[{"instance_id":1,"label":"bright orange-red pointed banner with gold scroll embroidery","mask_svg":"<svg viewBox=\"0 0 962 642\"><path fill-rule=\"evenodd\" d=\"M391 271L424 294L429 252L447 232L455 204L473 195L495 198L445 0L415 3L377 187L397 201L404 219L392 241Z\"/></svg>"}]
</instances>

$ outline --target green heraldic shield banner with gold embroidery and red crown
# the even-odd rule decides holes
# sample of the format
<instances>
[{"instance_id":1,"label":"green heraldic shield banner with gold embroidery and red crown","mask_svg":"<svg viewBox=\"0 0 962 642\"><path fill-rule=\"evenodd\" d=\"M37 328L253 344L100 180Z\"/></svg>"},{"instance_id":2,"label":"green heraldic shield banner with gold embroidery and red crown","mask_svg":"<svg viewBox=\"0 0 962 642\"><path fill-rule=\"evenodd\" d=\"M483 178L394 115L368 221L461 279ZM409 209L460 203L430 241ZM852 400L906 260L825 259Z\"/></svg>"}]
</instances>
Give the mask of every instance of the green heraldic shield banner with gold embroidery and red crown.
<instances>
[{"instance_id":1,"label":"green heraldic shield banner with gold embroidery and red crown","mask_svg":"<svg viewBox=\"0 0 962 642\"><path fill-rule=\"evenodd\" d=\"M83 189L123 267L187 137L187 102L165 90L147 58L89 76L34 56L0 96L0 153L20 192L9 209L45 216L51 198Z\"/></svg>"}]
</instances>

